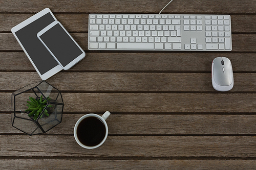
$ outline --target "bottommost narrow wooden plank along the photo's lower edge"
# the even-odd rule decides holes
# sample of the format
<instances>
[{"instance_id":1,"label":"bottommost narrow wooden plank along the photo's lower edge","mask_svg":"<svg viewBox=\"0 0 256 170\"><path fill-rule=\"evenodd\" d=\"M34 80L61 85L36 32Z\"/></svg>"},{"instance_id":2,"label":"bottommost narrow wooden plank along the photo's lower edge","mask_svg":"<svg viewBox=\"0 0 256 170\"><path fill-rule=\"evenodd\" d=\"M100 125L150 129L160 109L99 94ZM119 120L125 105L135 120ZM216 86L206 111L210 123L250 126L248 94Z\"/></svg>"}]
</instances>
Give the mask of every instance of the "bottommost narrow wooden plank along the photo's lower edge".
<instances>
[{"instance_id":1,"label":"bottommost narrow wooden plank along the photo's lower edge","mask_svg":"<svg viewBox=\"0 0 256 170\"><path fill-rule=\"evenodd\" d=\"M33 162L33 163L31 163ZM255 169L255 160L0 160L0 169Z\"/></svg>"}]
</instances>

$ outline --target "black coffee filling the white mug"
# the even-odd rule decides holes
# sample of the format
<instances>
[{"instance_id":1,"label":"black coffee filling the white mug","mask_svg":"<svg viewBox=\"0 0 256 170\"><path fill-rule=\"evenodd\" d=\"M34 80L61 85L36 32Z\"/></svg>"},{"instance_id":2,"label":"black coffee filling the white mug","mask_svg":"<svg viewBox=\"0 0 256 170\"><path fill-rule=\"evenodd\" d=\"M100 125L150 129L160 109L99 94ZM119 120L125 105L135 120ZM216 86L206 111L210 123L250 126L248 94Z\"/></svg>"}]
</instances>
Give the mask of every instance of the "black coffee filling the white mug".
<instances>
[{"instance_id":1,"label":"black coffee filling the white mug","mask_svg":"<svg viewBox=\"0 0 256 170\"><path fill-rule=\"evenodd\" d=\"M91 116L79 123L76 133L82 144L93 147L104 139L106 128L99 118Z\"/></svg>"}]
</instances>

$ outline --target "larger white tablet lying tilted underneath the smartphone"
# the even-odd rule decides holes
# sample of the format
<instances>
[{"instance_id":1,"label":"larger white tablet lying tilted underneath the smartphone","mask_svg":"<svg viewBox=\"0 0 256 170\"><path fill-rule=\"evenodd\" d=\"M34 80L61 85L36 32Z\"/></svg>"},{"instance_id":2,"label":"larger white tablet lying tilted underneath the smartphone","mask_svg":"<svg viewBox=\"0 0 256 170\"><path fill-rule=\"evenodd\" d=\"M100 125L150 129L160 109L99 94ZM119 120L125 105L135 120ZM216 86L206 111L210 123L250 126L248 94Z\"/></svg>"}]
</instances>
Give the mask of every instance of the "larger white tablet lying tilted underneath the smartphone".
<instances>
[{"instance_id":1,"label":"larger white tablet lying tilted underneath the smartphone","mask_svg":"<svg viewBox=\"0 0 256 170\"><path fill-rule=\"evenodd\" d=\"M46 8L11 29L20 46L28 56L42 80L46 80L62 70L37 33L57 20L49 8Z\"/></svg>"}]
</instances>

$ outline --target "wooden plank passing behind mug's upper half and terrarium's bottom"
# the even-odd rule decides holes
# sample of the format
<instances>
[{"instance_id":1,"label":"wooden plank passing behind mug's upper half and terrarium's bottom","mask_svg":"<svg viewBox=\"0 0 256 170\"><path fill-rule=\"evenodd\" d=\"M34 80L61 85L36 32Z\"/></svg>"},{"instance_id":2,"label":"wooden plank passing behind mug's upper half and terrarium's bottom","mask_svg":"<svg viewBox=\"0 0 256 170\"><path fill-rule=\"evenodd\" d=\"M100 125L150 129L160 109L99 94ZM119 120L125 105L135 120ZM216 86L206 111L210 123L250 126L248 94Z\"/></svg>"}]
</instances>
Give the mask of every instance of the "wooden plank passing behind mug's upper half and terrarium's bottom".
<instances>
[{"instance_id":1,"label":"wooden plank passing behind mug's upper half and terrarium's bottom","mask_svg":"<svg viewBox=\"0 0 256 170\"><path fill-rule=\"evenodd\" d=\"M103 112L99 113L102 115ZM83 114L63 114L47 135L72 135ZM111 114L110 135L255 135L256 115ZM26 125L24 125L26 126ZM0 114L0 134L24 134L11 126L11 115Z\"/></svg>"}]
</instances>

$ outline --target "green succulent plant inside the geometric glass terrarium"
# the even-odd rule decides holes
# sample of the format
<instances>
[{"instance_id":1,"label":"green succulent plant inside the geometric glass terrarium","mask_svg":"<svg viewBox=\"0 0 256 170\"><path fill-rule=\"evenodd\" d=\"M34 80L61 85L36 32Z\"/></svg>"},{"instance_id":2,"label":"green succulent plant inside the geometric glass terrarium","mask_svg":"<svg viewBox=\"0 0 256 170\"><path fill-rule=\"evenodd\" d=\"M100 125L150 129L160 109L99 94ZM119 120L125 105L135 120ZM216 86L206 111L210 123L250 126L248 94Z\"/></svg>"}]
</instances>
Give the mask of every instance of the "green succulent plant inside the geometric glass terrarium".
<instances>
[{"instance_id":1,"label":"green succulent plant inside the geometric glass terrarium","mask_svg":"<svg viewBox=\"0 0 256 170\"><path fill-rule=\"evenodd\" d=\"M37 100L34 99L33 97L29 97L30 101L27 101L27 103L28 103L27 106L29 108L27 110L25 110L26 112L29 112L28 116L29 117L33 116L33 119L36 120L38 118L39 114L41 113L41 111L44 110L44 108L46 107L47 101L50 100L49 96L46 99L42 99L42 95ZM52 105L48 105L47 108L48 107L52 107ZM47 109L44 110L44 113L41 114L41 117L44 114L49 116Z\"/></svg>"}]
</instances>

